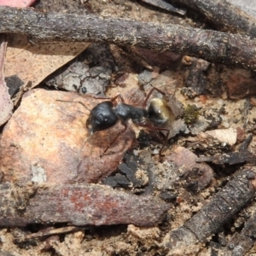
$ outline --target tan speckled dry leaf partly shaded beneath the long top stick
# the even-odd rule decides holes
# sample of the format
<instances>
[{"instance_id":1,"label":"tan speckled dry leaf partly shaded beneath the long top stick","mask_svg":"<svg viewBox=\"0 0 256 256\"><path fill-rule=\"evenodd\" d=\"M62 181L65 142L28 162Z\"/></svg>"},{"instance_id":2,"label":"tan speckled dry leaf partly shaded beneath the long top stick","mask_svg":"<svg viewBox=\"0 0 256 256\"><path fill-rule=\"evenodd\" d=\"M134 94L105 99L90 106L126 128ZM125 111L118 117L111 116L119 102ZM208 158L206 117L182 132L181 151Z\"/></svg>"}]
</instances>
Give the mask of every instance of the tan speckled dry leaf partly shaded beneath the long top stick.
<instances>
[{"instance_id":1,"label":"tan speckled dry leaf partly shaded beneath the long top stick","mask_svg":"<svg viewBox=\"0 0 256 256\"><path fill-rule=\"evenodd\" d=\"M79 55L90 43L41 43L29 44L26 36L9 38L6 53L6 77L17 75L32 88L42 82L50 73L62 67Z\"/></svg>"}]
</instances>

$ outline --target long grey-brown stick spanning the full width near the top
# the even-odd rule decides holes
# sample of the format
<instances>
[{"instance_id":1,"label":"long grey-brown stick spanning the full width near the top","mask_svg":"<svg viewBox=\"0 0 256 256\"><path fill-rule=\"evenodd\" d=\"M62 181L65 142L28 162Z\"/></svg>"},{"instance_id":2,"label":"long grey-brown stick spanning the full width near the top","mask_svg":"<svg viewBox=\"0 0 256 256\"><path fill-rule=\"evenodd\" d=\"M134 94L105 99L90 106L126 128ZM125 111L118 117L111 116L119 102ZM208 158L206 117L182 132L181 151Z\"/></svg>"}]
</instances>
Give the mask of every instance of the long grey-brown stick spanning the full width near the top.
<instances>
[{"instance_id":1,"label":"long grey-brown stick spanning the full width near the top","mask_svg":"<svg viewBox=\"0 0 256 256\"><path fill-rule=\"evenodd\" d=\"M27 34L43 41L90 41L171 50L256 70L256 40L171 24L0 7L0 32Z\"/></svg>"}]
</instances>

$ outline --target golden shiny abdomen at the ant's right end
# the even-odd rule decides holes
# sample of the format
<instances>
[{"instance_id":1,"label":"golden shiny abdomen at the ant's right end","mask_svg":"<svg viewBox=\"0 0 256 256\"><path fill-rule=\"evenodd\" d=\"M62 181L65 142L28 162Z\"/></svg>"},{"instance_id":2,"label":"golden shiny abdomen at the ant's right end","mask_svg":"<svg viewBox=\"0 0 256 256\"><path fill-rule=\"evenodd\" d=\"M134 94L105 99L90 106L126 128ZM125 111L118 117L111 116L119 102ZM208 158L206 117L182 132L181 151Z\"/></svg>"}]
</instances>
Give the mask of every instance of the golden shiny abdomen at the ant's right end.
<instances>
[{"instance_id":1,"label":"golden shiny abdomen at the ant's right end","mask_svg":"<svg viewBox=\"0 0 256 256\"><path fill-rule=\"evenodd\" d=\"M175 120L172 109L164 99L153 98L148 106L148 119L154 125L165 126Z\"/></svg>"}]
</instances>

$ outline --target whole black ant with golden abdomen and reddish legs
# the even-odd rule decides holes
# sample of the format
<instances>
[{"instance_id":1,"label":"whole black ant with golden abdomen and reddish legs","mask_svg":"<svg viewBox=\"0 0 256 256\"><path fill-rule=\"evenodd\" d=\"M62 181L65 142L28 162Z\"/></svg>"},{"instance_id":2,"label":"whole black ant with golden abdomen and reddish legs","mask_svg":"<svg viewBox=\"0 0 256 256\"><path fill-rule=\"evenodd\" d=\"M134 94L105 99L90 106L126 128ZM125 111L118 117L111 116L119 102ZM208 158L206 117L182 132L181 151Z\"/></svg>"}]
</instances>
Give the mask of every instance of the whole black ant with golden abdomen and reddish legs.
<instances>
[{"instance_id":1,"label":"whole black ant with golden abdomen and reddish legs","mask_svg":"<svg viewBox=\"0 0 256 256\"><path fill-rule=\"evenodd\" d=\"M170 133L170 129L162 126L175 118L171 108L169 108L166 101L163 99L152 99L149 102L148 108L146 108L148 99L154 90L160 92L160 94L166 97L165 92L154 87L148 93L148 96L143 103L143 108L137 108L129 104L125 104L125 100L121 95L114 96L109 101L97 104L95 108L91 109L89 118L86 121L86 127L89 129L90 134L93 134L96 131L107 130L113 125L116 125L118 121L121 121L121 124L125 126L125 129L113 139L112 143L108 146L109 148L118 139L118 137L126 131L128 127L128 120L131 119L135 125L146 127L149 130L166 131L165 142L159 152L161 156L163 149L166 147ZM116 99L118 97L121 100L120 103L116 103ZM107 152L108 148L104 150L103 154Z\"/></svg>"}]
</instances>

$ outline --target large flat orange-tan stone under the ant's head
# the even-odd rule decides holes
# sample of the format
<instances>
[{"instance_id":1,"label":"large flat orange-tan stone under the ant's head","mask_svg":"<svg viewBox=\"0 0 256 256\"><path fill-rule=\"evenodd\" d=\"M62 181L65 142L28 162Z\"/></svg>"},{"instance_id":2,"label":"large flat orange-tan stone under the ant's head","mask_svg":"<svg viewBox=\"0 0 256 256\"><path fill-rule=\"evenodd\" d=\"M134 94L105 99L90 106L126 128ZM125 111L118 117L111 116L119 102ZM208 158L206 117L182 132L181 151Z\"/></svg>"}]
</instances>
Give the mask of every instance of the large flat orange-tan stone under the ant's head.
<instances>
[{"instance_id":1,"label":"large flat orange-tan stone under the ant's head","mask_svg":"<svg viewBox=\"0 0 256 256\"><path fill-rule=\"evenodd\" d=\"M130 127L122 133L124 126L117 124L90 135L85 122L99 102L92 96L64 91L26 93L0 141L3 180L96 183L113 172L134 143L135 133Z\"/></svg>"}]
</instances>

